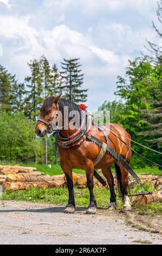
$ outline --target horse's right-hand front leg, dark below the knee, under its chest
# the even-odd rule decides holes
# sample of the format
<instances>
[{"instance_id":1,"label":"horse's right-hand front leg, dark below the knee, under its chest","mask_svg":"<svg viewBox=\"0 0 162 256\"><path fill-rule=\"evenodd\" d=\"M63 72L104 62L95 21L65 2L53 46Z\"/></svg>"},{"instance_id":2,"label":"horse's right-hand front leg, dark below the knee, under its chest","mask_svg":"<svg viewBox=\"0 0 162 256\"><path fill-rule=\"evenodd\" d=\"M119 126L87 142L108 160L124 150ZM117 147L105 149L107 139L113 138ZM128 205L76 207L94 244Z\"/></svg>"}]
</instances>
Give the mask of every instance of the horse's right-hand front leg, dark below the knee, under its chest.
<instances>
[{"instance_id":1,"label":"horse's right-hand front leg, dark below the knee, under its chest","mask_svg":"<svg viewBox=\"0 0 162 256\"><path fill-rule=\"evenodd\" d=\"M89 190L89 206L86 211L87 214L95 214L97 203L94 197L93 188L94 188L94 182L93 182L93 174L94 174L94 166L90 166L86 169L86 176L87 176L87 187Z\"/></svg>"}]
</instances>

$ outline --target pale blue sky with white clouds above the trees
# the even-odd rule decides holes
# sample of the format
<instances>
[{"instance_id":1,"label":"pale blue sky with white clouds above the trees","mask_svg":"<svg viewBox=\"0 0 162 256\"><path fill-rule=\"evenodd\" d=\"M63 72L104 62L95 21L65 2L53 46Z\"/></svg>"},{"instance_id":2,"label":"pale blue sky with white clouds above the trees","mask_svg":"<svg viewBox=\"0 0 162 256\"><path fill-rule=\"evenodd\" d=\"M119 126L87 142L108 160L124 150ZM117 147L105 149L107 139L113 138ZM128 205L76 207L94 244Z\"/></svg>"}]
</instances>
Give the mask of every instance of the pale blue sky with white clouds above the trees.
<instances>
[{"instance_id":1,"label":"pale blue sky with white clouds above the trees","mask_svg":"<svg viewBox=\"0 0 162 256\"><path fill-rule=\"evenodd\" d=\"M22 82L30 59L44 54L60 68L80 58L93 111L115 99L128 59L157 41L156 10L157 0L0 0L0 64Z\"/></svg>"}]
</instances>

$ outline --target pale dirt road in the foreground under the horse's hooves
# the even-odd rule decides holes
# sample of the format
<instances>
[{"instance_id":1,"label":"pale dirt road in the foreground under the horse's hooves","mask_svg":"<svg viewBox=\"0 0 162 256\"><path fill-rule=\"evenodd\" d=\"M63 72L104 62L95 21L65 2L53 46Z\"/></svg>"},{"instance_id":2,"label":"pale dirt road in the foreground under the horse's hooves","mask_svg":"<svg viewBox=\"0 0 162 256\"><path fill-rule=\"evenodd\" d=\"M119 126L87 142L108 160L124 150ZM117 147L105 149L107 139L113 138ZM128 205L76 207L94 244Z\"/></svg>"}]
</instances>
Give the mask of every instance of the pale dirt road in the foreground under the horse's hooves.
<instances>
[{"instance_id":1,"label":"pale dirt road in the foreground under the horse's hooves","mask_svg":"<svg viewBox=\"0 0 162 256\"><path fill-rule=\"evenodd\" d=\"M0 201L1 244L162 244L161 234L138 230L125 215L98 210L63 214L63 206Z\"/></svg>"}]
</instances>

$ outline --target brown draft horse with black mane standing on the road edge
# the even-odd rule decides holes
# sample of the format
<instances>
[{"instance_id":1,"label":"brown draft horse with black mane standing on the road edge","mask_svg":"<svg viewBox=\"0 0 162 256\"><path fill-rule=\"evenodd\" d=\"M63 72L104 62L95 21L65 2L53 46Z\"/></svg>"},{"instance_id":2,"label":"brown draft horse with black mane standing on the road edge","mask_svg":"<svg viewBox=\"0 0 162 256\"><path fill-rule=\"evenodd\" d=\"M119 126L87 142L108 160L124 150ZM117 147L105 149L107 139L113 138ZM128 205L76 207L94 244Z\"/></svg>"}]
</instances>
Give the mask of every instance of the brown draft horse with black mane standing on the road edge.
<instances>
[{"instance_id":1,"label":"brown draft horse with black mane standing on the road edge","mask_svg":"<svg viewBox=\"0 0 162 256\"><path fill-rule=\"evenodd\" d=\"M81 114L83 111L77 106L75 103L60 99L60 95L56 97L52 97L48 95L47 99L44 100L43 106L41 108L40 118L36 124L36 134L39 137L44 137L48 132L52 130L59 130L62 138L69 138L69 136L73 136L74 133L77 133L79 127L75 127L75 129L67 126L63 119L63 126L59 127L60 114L58 114L58 110L63 114L63 108L67 106L68 113L70 111L78 111ZM68 117L68 121L69 121ZM51 125L53 129L51 129ZM128 150L126 144L120 141L119 138L115 137L115 135L109 130L116 132L119 138L121 138L125 143L129 144L128 133L118 124L107 124L105 125L105 132L108 136L108 141L110 147L112 147L117 153L119 153L124 159L127 156L127 162L131 161L131 149ZM89 131L90 134L100 139L100 141L106 143L106 138L99 131L98 127L92 125ZM119 135L120 133L120 135ZM122 136L123 135L123 136ZM127 138L126 138L127 137ZM68 192L69 192L69 200L68 205L64 212L73 213L75 208L75 199L74 199L74 187L73 187L73 178L72 178L72 170L75 167L79 167L86 171L87 176L87 187L89 189L90 194L90 202L87 209L87 214L95 214L97 204L93 193L94 188L94 168L101 169L103 175L107 179L109 189L111 192L110 204L108 206L109 210L116 209L116 195L114 191L114 178L111 172L111 165L115 163L115 169L118 179L119 191L124 200L124 209L131 210L131 202L127 196L127 188L128 188L128 171L122 166L121 163L116 162L114 157L109 153L105 153L103 155L101 161L94 166L94 160L98 157L100 153L99 145L89 141L87 138L82 141L80 144L76 144L74 147L70 148L62 148L59 145L59 153L60 153L60 164L61 168L66 175Z\"/></svg>"}]
</instances>

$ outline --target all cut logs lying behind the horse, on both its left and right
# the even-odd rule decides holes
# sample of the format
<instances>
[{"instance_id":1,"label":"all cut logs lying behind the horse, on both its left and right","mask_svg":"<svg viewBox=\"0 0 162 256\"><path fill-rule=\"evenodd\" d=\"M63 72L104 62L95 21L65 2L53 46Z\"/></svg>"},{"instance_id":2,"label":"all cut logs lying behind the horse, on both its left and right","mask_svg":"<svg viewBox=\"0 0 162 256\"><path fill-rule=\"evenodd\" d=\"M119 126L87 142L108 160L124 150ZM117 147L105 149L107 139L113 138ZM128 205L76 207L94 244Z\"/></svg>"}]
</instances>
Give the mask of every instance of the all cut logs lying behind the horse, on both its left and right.
<instances>
[{"instance_id":1,"label":"all cut logs lying behind the horse, on both its left and right","mask_svg":"<svg viewBox=\"0 0 162 256\"><path fill-rule=\"evenodd\" d=\"M103 179L105 177L100 173ZM115 174L114 176L114 183ZM149 204L154 201L162 202L162 175L139 175L139 178L144 184L151 184L155 191L152 194L144 196L137 196L132 198L133 204ZM77 174L73 172L73 182L79 188L86 187L87 179L86 175ZM98 187L102 187L101 183L94 178L94 184ZM42 188L57 188L66 186L65 175L44 175L43 172L38 172L33 167L22 166L1 166L0 165L0 185L3 190L28 190L31 187ZM133 188L137 186L135 181L131 181L129 177L129 187Z\"/></svg>"}]
</instances>

